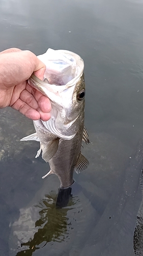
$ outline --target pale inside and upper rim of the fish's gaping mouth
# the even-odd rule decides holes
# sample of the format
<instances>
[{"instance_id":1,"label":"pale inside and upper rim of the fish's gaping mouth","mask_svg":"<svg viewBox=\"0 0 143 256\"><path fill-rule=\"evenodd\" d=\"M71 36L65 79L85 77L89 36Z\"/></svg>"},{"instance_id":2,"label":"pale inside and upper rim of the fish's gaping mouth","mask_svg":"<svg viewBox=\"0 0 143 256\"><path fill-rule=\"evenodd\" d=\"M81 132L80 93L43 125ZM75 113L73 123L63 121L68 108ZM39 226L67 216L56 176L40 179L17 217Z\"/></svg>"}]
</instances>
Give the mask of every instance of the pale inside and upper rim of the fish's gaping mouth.
<instances>
[{"instance_id":1,"label":"pale inside and upper rim of the fish's gaping mouth","mask_svg":"<svg viewBox=\"0 0 143 256\"><path fill-rule=\"evenodd\" d=\"M70 83L75 83L74 80L79 79L83 73L83 59L71 51L49 48L38 58L46 65L45 78L48 79L49 84L71 86Z\"/></svg>"}]
</instances>

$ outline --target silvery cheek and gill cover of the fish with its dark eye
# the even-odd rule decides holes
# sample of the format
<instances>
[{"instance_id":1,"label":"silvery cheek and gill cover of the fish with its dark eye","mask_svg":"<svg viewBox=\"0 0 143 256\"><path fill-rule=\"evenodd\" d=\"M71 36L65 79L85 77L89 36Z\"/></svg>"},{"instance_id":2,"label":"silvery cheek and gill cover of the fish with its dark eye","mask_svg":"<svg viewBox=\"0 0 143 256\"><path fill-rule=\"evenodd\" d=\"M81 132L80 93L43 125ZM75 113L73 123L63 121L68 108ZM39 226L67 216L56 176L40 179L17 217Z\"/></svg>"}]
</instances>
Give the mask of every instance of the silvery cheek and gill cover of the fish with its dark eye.
<instances>
[{"instance_id":1,"label":"silvery cheek and gill cover of the fish with its dark eye","mask_svg":"<svg viewBox=\"0 0 143 256\"><path fill-rule=\"evenodd\" d=\"M56 102L51 102L52 111L57 111L56 129L63 135L72 136L77 133L79 123L83 121L85 105L84 74L73 86L65 89ZM55 116L54 116L55 117Z\"/></svg>"}]
</instances>

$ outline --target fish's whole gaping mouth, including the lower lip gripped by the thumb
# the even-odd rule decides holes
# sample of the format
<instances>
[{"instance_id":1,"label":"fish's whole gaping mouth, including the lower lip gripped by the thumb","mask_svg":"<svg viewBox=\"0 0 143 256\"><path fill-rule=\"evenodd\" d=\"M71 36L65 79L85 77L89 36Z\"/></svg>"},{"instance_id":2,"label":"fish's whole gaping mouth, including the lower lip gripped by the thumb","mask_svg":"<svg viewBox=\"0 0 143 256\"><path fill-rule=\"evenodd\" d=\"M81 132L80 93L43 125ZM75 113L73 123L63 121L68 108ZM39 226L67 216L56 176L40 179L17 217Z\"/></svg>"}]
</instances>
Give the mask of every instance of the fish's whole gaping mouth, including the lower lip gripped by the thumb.
<instances>
[{"instance_id":1,"label":"fish's whole gaping mouth, including the lower lip gripped by the thumb","mask_svg":"<svg viewBox=\"0 0 143 256\"><path fill-rule=\"evenodd\" d=\"M33 73L28 79L28 84L50 100L53 100L51 93L61 93L72 87L83 73L83 59L76 53L67 50L48 49L44 54L37 57L46 65L44 78L48 83L40 80Z\"/></svg>"}]
</instances>

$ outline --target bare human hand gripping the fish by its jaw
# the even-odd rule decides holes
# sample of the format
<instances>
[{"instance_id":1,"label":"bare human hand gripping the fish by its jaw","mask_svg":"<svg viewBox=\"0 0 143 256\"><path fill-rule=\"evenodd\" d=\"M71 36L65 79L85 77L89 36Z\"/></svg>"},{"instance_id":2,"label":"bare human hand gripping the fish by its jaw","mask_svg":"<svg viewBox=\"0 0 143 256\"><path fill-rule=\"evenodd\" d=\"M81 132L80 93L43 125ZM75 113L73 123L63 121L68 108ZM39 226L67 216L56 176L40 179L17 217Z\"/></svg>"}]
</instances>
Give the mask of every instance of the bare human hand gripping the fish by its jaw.
<instances>
[{"instance_id":1,"label":"bare human hand gripping the fish by its jaw","mask_svg":"<svg viewBox=\"0 0 143 256\"><path fill-rule=\"evenodd\" d=\"M47 121L51 104L28 84L33 72L43 79L45 65L34 53L17 48L0 52L0 109L11 106L30 119Z\"/></svg>"}]
</instances>

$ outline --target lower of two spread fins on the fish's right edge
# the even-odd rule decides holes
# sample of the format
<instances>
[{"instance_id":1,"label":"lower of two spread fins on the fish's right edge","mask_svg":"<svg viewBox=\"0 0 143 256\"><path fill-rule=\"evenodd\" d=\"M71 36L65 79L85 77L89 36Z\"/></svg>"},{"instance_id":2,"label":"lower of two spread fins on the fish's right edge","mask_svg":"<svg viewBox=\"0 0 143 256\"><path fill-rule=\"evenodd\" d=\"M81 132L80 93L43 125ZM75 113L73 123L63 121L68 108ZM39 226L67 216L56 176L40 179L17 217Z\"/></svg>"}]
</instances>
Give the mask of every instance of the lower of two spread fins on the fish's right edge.
<instances>
[{"instance_id":1,"label":"lower of two spread fins on the fish's right edge","mask_svg":"<svg viewBox=\"0 0 143 256\"><path fill-rule=\"evenodd\" d=\"M85 170L88 167L88 165L89 165L89 161L80 152L76 165L74 167L75 172L77 174L81 173L82 170Z\"/></svg>"}]
</instances>

